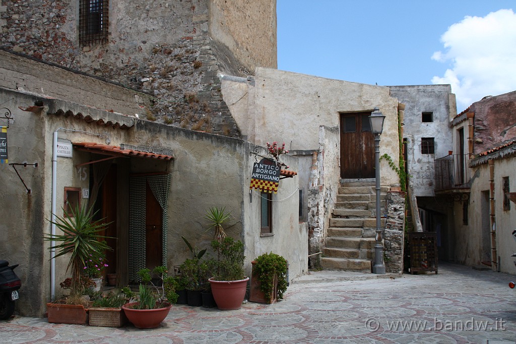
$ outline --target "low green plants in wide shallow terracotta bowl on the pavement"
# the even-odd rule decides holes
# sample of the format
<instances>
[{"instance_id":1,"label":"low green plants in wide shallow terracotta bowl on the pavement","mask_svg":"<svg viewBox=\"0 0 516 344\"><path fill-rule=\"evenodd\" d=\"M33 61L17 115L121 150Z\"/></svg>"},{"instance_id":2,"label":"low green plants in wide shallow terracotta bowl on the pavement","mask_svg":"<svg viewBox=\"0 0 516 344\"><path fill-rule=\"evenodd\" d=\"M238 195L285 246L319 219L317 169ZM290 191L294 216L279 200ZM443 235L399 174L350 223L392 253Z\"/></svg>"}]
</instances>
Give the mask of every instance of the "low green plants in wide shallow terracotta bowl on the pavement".
<instances>
[{"instance_id":1,"label":"low green plants in wide shallow terracotta bowl on the pavement","mask_svg":"<svg viewBox=\"0 0 516 344\"><path fill-rule=\"evenodd\" d=\"M178 299L175 293L174 277L168 276L166 267L155 267L152 272L160 279L159 284L152 282L151 271L141 269L138 276L142 283L138 293L130 288L122 288L127 298L136 300L122 306L127 319L138 329L154 329L167 317L172 304Z\"/></svg>"}]
</instances>

